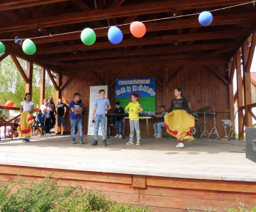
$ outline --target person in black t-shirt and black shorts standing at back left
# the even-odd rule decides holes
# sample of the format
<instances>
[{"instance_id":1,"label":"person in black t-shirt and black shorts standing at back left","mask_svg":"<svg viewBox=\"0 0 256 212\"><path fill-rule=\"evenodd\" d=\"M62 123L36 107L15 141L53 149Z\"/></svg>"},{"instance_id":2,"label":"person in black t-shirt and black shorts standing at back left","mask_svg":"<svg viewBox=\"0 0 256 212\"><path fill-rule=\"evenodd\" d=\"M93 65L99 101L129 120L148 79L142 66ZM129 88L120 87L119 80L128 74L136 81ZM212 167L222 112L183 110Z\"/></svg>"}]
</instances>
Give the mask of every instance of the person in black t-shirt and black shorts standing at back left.
<instances>
[{"instance_id":1,"label":"person in black t-shirt and black shorts standing at back left","mask_svg":"<svg viewBox=\"0 0 256 212\"><path fill-rule=\"evenodd\" d=\"M66 113L67 113L67 105L62 102L62 99L59 98L59 104L56 105L57 112L57 125L59 132L56 135L61 135L61 124L63 127L63 135L66 135L65 126L66 126Z\"/></svg>"}]
</instances>

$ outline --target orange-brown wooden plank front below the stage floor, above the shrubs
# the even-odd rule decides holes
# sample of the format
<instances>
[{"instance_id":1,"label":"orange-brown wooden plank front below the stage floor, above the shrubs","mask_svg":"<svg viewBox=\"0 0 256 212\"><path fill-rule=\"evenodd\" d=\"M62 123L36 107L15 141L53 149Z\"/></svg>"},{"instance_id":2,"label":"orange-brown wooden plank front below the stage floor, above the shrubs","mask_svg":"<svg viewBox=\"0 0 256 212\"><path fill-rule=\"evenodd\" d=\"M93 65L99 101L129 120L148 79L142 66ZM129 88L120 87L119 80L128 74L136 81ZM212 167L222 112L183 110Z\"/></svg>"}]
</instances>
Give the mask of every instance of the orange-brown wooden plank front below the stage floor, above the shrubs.
<instances>
[{"instance_id":1,"label":"orange-brown wooden plank front below the stage floor, above the shrubs","mask_svg":"<svg viewBox=\"0 0 256 212\"><path fill-rule=\"evenodd\" d=\"M16 178L18 172L27 181L41 181L52 173L61 176L62 187L70 183L86 189L97 189L119 202L134 205L145 204L153 211L224 211L228 205L237 207L239 198L246 208L255 205L256 183L243 181L211 181L189 178L164 178L157 176L124 175L118 173L95 173L77 170L56 170L39 167L19 167L0 164L0 183L6 184ZM135 178L146 179L145 188L137 188ZM136 185L135 185L136 184Z\"/></svg>"}]
</instances>

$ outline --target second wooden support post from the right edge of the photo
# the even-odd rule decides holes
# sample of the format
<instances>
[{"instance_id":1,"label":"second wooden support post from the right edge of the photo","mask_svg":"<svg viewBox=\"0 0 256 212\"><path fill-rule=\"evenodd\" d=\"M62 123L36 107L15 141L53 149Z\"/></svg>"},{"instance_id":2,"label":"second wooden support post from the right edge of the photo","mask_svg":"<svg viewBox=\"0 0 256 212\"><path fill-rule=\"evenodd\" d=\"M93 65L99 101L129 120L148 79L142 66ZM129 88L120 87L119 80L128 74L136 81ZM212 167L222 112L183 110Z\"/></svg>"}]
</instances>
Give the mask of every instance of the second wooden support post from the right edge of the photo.
<instances>
[{"instance_id":1,"label":"second wooden support post from the right edge of the photo","mask_svg":"<svg viewBox=\"0 0 256 212\"><path fill-rule=\"evenodd\" d=\"M238 108L243 106L243 85L241 74L241 50L236 52L236 80L237 80L237 96L238 96ZM243 111L238 110L238 137L244 140L244 119Z\"/></svg>"}]
</instances>

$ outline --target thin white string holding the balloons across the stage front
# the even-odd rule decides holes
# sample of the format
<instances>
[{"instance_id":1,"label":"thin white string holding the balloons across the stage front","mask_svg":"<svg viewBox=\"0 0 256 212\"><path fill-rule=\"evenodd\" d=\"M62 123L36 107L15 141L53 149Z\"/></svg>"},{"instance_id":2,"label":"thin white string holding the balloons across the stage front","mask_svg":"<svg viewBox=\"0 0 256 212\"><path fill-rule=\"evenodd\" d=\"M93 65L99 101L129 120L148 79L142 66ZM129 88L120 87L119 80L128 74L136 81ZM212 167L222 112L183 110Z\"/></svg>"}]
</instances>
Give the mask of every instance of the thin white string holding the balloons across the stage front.
<instances>
[{"instance_id":1,"label":"thin white string holding the balloons across the stage front","mask_svg":"<svg viewBox=\"0 0 256 212\"><path fill-rule=\"evenodd\" d=\"M242 6L242 5L245 5L245 4L251 4L251 3L255 4L255 0L249 1L249 2L246 2L246 3L242 3L242 4L232 5L232 6L229 6L229 7L222 7L222 8L216 9L216 10L209 10L208 12L215 12L215 11L219 11L219 10L227 10L229 8L232 8L232 7L239 7L239 6ZM140 22L147 23L147 22L153 22L153 21L158 21L158 20L168 20L168 19L173 19L173 18L188 17L188 16L192 16L192 15L200 15L200 12L193 13L193 14L188 14L188 15L172 16L172 17L167 17L167 18L157 18L157 19L153 19L153 20L142 20ZM131 23L124 23L124 24L118 24L118 25L115 25L115 26L127 26L127 25L130 25L130 24ZM108 28L110 28L110 26L94 28L93 30L108 29ZM78 32L81 32L81 30L80 31L69 31L69 32L64 32L64 33L59 33L59 34L50 34L50 35L45 35L45 36L40 36L40 37L30 37L30 38L27 38L27 39L42 39L42 38L45 38L45 37L56 37L56 36L59 36L59 35L73 34L73 33L78 33ZM25 38L23 38L23 39L25 39ZM15 39L0 39L0 41L15 41Z\"/></svg>"}]
</instances>

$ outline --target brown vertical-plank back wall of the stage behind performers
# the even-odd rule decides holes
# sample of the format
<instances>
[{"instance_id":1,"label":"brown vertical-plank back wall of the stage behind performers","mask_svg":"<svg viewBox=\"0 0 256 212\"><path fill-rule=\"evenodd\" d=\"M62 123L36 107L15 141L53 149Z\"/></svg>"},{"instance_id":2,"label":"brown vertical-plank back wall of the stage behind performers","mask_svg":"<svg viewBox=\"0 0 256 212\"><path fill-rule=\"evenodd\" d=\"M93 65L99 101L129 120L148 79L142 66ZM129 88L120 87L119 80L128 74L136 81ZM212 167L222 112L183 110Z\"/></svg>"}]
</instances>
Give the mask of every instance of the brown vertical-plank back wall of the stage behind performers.
<instances>
[{"instance_id":1,"label":"brown vertical-plank back wall of the stage behind performers","mask_svg":"<svg viewBox=\"0 0 256 212\"><path fill-rule=\"evenodd\" d=\"M219 75L227 78L227 71L225 65L210 64ZM166 108L169 109L170 102L173 99L173 91L176 87L180 87L184 91L184 96L187 97L191 105L192 111L197 111L201 107L211 106L211 111L217 111L217 129L220 136L224 136L224 128L221 124L222 119L230 119L229 114L229 91L228 86L222 80L211 72L204 65L193 65L185 67L176 77L173 75L178 72L183 66L179 67L147 67L147 68L138 68L138 69L111 69L108 72L98 70L94 71L93 75L90 72L78 72L77 75L71 80L71 82L63 89L61 96L64 99L64 102L69 103L73 99L73 94L79 92L82 96L82 101L84 105L83 111L83 133L87 134L88 131L88 118L89 118L89 98L90 98L90 86L100 86L101 82L108 84L109 94L108 99L110 99L110 104L112 109L110 113L113 113L116 99L116 86L115 80L120 74L119 78L140 78L140 77L157 77L157 97L156 97L156 107L157 113L160 113L159 106L167 102ZM101 82L95 77L96 75ZM167 79L164 75L167 75ZM63 75L62 82L65 82L69 76ZM163 81L166 79L170 83ZM167 94L164 94L165 89ZM167 99L165 97L167 95ZM211 120L210 120L211 119ZM69 116L67 116L69 120ZM158 122L158 119L149 120L150 124L150 134L154 134L153 124ZM207 117L208 130L211 131L213 127L212 117ZM203 129L203 116L200 117L200 121L197 124L200 124L201 130ZM129 135L129 123L127 120L127 128L125 129L125 135ZM147 135L146 126L144 124L140 125L141 135ZM67 121L67 129L70 129L69 121ZM164 135L167 135L164 132Z\"/></svg>"}]
</instances>

